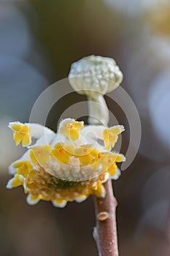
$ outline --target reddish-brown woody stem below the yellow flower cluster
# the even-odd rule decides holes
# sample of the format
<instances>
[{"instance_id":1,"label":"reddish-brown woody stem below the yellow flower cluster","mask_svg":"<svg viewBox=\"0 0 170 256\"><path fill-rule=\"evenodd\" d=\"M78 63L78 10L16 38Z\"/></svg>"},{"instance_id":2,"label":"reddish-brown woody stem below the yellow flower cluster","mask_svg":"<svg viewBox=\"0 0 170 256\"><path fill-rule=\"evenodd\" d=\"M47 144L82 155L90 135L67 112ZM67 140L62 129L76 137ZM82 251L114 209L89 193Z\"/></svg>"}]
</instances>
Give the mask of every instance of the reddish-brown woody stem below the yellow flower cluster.
<instances>
[{"instance_id":1,"label":"reddish-brown woody stem below the yellow flower cluster","mask_svg":"<svg viewBox=\"0 0 170 256\"><path fill-rule=\"evenodd\" d=\"M104 187L106 197L94 197L96 212L96 229L94 238L100 256L118 256L116 206L117 201L113 195L112 181L109 179Z\"/></svg>"}]
</instances>

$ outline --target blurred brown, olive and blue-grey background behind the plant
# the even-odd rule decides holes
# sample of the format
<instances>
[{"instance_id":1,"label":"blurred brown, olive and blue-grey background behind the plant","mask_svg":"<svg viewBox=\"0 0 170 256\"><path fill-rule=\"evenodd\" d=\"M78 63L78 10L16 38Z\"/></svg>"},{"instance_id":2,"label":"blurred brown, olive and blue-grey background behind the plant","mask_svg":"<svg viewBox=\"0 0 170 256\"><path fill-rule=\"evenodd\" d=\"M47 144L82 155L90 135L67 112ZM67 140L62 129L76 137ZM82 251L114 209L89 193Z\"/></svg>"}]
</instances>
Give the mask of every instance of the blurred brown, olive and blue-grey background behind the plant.
<instances>
[{"instance_id":1,"label":"blurred brown, olive and blue-grey background behind the plant","mask_svg":"<svg viewBox=\"0 0 170 256\"><path fill-rule=\"evenodd\" d=\"M93 198L54 208L26 204L23 189L5 189L8 165L23 154L7 129L27 122L48 86L66 78L72 62L109 56L123 71L123 89L139 110L142 141L134 162L114 182L120 256L168 256L170 241L170 1L0 0L0 249L3 256L97 256ZM72 102L77 100L72 94ZM128 146L124 124L121 152ZM56 130L54 106L47 126ZM170 226L170 225L169 225ZM170 228L169 228L170 230Z\"/></svg>"}]
</instances>

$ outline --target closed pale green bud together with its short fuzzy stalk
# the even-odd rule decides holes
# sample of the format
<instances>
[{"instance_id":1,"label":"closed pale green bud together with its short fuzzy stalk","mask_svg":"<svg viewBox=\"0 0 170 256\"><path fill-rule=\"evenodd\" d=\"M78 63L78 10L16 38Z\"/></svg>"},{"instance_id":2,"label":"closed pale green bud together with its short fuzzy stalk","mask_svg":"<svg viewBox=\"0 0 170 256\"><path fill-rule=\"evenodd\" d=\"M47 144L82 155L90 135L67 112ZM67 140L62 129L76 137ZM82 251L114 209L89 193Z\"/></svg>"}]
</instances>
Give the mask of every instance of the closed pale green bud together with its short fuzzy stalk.
<instances>
[{"instance_id":1,"label":"closed pale green bud together with its short fuzzy stalk","mask_svg":"<svg viewBox=\"0 0 170 256\"><path fill-rule=\"evenodd\" d=\"M115 60L101 56L88 56L72 64L69 82L79 94L88 97L89 123L109 122L109 111L103 95L119 86L123 74Z\"/></svg>"}]
</instances>

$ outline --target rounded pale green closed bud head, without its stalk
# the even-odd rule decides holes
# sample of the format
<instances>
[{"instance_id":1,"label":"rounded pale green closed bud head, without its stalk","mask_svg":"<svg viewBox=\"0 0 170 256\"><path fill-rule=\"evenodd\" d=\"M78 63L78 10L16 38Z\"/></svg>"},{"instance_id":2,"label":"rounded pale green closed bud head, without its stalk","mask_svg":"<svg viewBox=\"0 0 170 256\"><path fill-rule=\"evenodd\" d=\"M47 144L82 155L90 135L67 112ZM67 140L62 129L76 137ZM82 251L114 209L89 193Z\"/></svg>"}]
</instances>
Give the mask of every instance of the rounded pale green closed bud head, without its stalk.
<instances>
[{"instance_id":1,"label":"rounded pale green closed bud head, without its stalk","mask_svg":"<svg viewBox=\"0 0 170 256\"><path fill-rule=\"evenodd\" d=\"M69 82L80 94L106 94L119 86L123 74L112 58L87 56L72 64Z\"/></svg>"}]
</instances>

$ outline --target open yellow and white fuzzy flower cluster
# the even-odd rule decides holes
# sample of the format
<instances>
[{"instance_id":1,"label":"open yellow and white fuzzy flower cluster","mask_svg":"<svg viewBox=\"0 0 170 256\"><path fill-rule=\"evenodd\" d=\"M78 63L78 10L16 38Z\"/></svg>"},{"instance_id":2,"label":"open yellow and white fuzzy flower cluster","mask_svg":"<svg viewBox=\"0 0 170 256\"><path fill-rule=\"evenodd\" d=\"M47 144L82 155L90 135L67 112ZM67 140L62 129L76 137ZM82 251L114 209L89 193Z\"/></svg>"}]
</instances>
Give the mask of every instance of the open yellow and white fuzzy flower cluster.
<instances>
[{"instance_id":1,"label":"open yellow and white fuzzy flower cluster","mask_svg":"<svg viewBox=\"0 0 170 256\"><path fill-rule=\"evenodd\" d=\"M123 126L106 128L66 118L55 134L39 124L10 123L16 145L28 146L9 171L14 176L7 188L23 186L27 202L51 201L66 206L68 201L82 202L89 195L105 196L104 182L118 178L117 162L122 154L112 152ZM31 138L36 143L31 145ZM98 143L100 140L100 143Z\"/></svg>"}]
</instances>

